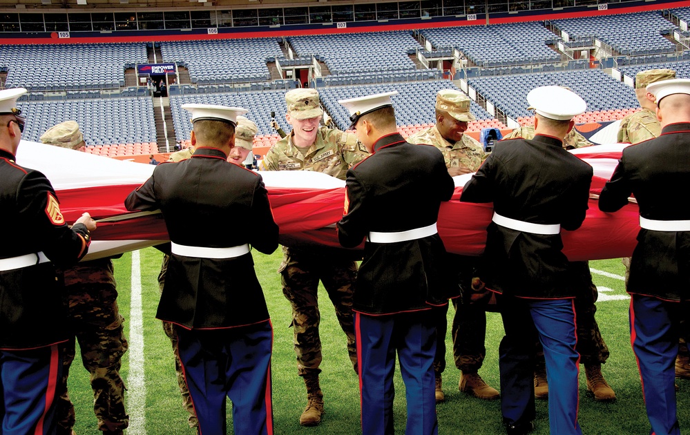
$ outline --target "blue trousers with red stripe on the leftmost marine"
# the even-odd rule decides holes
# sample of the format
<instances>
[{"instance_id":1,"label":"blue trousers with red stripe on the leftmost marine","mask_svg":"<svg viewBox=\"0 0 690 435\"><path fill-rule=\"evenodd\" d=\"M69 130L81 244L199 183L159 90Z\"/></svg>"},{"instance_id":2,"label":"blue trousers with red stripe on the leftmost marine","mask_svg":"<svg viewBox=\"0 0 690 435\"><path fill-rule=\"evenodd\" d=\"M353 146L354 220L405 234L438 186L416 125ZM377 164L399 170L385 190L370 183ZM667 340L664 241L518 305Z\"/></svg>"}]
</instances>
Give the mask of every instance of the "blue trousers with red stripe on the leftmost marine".
<instances>
[{"instance_id":1,"label":"blue trousers with red stripe on the leftmost marine","mask_svg":"<svg viewBox=\"0 0 690 435\"><path fill-rule=\"evenodd\" d=\"M55 396L61 377L59 345L0 350L0 434L55 434Z\"/></svg>"}]
</instances>

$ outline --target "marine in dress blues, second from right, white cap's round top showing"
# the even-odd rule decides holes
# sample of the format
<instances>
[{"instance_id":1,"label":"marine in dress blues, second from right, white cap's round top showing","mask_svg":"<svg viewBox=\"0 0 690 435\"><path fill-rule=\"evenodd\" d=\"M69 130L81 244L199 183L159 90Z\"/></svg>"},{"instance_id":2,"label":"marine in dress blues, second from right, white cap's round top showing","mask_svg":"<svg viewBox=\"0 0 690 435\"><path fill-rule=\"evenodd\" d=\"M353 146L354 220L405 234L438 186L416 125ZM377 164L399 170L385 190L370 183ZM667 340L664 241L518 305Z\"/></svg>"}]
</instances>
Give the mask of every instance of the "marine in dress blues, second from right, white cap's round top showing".
<instances>
[{"instance_id":1,"label":"marine in dress blues, second from right, white cap's round top showing","mask_svg":"<svg viewBox=\"0 0 690 435\"><path fill-rule=\"evenodd\" d=\"M537 135L499 142L460 200L494 204L480 277L502 299L506 336L499 367L508 434L533 428L537 334L549 382L559 385L549 394L550 432L579 434L573 298L583 287L562 253L560 231L579 228L588 208L593 170L562 147L573 116L586 104L559 86L533 89L527 99L536 111Z\"/></svg>"}]
</instances>

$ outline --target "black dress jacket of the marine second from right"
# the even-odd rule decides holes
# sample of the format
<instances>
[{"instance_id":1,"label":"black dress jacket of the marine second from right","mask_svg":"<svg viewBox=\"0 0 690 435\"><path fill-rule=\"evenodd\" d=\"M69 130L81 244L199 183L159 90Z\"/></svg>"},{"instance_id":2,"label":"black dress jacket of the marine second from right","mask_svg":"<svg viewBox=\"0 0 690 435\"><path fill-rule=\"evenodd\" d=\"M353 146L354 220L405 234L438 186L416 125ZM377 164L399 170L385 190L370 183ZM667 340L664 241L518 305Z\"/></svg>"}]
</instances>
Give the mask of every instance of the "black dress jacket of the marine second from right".
<instances>
[{"instance_id":1,"label":"black dress jacket of the marine second from right","mask_svg":"<svg viewBox=\"0 0 690 435\"><path fill-rule=\"evenodd\" d=\"M532 224L578 229L588 209L591 166L551 136L498 142L463 188L464 202L493 202L495 213ZM543 235L491 222L480 276L486 287L523 298L571 298L578 281L560 233Z\"/></svg>"}]
</instances>

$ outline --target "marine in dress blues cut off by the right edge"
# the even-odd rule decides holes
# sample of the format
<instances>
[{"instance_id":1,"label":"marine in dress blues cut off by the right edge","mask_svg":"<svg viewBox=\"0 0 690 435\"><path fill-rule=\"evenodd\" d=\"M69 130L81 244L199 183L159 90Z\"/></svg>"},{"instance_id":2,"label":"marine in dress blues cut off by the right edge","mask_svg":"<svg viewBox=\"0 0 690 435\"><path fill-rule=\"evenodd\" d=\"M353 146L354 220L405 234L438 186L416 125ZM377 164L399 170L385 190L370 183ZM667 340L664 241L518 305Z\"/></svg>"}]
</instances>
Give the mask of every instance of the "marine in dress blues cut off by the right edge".
<instances>
[{"instance_id":1,"label":"marine in dress blues cut off by the right edge","mask_svg":"<svg viewBox=\"0 0 690 435\"><path fill-rule=\"evenodd\" d=\"M656 98L661 135L623 150L599 208L617 211L631 194L640 207L627 284L631 344L651 433L680 434L673 362L690 300L690 198L673 188L690 182L690 80L658 81L647 91Z\"/></svg>"}]
</instances>

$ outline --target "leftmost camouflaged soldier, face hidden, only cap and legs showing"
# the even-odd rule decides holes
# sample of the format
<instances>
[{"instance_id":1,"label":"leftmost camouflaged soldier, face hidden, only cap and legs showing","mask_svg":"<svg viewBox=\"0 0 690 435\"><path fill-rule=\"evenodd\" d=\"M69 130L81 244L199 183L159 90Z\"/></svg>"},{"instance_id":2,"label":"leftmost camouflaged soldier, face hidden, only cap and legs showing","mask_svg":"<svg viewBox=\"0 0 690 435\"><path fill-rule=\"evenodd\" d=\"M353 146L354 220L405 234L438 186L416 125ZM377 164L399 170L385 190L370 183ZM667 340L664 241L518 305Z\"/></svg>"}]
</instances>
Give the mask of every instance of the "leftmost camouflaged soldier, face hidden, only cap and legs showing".
<instances>
[{"instance_id":1,"label":"leftmost camouflaged soldier, face hidden, only cap and legs showing","mask_svg":"<svg viewBox=\"0 0 690 435\"><path fill-rule=\"evenodd\" d=\"M86 146L79 124L74 121L49 128L41 136L41 142L82 151ZM122 434L129 424L124 409L124 382L119 376L127 340L122 328L124 317L117 308L113 262L110 258L90 260L62 272L73 335L64 343L63 376L55 417L57 433L73 433L75 409L67 392L67 378L75 358L75 340L78 340L84 368L90 373L98 429L104 434Z\"/></svg>"}]
</instances>

